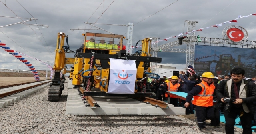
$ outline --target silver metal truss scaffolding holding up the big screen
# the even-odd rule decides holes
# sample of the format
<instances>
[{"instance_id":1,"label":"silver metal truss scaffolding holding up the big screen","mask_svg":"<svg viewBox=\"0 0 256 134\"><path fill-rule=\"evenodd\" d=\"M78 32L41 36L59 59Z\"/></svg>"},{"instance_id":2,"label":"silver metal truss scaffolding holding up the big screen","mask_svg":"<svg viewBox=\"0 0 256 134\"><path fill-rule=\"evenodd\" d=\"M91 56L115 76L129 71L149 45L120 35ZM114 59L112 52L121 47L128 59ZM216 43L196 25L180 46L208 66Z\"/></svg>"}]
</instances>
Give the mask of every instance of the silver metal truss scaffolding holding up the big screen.
<instances>
[{"instance_id":1,"label":"silver metal truss scaffolding holding up the big screen","mask_svg":"<svg viewBox=\"0 0 256 134\"><path fill-rule=\"evenodd\" d=\"M196 25L198 26L197 21L185 21L187 23L187 32L196 30ZM197 42L196 32L188 33L187 37L182 40L183 44L187 44L186 49L172 48L174 46L179 46L179 40L174 42L166 43L160 46L152 45L151 52L153 57L157 57L158 52L186 52L186 67L188 65L194 66L195 59L195 42ZM208 37L199 37L202 40L198 43L207 46L226 46L226 47L238 47L238 48L252 48L256 49L256 41L245 40L241 42L230 42L227 38L208 38ZM152 40L154 43L155 40ZM152 44L153 44L152 43ZM152 70L156 71L156 68L152 65ZM185 67L185 68L186 68Z\"/></svg>"}]
</instances>

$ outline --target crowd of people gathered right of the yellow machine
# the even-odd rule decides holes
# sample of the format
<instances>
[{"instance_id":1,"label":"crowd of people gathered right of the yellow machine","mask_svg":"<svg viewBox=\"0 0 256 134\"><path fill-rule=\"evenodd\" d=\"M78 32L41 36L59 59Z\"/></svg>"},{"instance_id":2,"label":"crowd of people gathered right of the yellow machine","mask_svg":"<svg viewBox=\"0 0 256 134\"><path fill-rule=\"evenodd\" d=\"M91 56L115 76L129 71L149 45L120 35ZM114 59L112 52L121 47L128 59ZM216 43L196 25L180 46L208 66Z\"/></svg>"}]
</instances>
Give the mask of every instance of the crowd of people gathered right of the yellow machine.
<instances>
[{"instance_id":1,"label":"crowd of people gathered right of the yellow machine","mask_svg":"<svg viewBox=\"0 0 256 134\"><path fill-rule=\"evenodd\" d=\"M248 80L244 74L242 68L233 68L230 74L218 77L211 72L204 72L200 77L181 71L179 76L167 78L164 75L157 80L148 78L148 85L156 94L156 99L174 106L184 104L186 114L194 114L195 111L195 121L200 130L206 126L219 127L222 113L226 134L234 134L235 119L238 117L243 134L252 134L251 126L256 126L256 77ZM170 96L167 91L185 92L186 100ZM210 124L206 124L209 119Z\"/></svg>"}]
</instances>

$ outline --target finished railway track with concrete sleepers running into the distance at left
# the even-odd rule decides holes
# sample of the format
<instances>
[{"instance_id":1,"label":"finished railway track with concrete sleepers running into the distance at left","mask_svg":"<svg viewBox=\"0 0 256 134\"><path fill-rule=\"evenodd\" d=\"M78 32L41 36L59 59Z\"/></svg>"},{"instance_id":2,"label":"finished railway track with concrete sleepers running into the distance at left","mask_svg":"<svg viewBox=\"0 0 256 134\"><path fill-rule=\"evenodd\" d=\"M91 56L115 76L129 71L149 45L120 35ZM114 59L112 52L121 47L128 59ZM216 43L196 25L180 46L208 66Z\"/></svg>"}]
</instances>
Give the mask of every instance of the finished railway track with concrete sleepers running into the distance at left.
<instances>
[{"instance_id":1,"label":"finished railway track with concrete sleepers running into the distance at left","mask_svg":"<svg viewBox=\"0 0 256 134\"><path fill-rule=\"evenodd\" d=\"M39 82L26 82L21 84L9 85L9 87L0 89L0 108L9 106L10 104L36 92L46 86L49 86L52 80L41 80ZM4 86L1 86L4 87Z\"/></svg>"}]
</instances>

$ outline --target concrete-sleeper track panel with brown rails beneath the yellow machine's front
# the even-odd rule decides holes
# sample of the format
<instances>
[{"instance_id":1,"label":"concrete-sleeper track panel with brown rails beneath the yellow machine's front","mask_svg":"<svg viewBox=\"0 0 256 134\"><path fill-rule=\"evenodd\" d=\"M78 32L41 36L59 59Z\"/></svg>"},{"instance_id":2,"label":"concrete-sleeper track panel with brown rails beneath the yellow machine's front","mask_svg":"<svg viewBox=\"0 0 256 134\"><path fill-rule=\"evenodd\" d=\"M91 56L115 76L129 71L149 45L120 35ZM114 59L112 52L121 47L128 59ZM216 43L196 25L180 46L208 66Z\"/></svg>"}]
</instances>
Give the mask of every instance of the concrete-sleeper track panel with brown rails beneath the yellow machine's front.
<instances>
[{"instance_id":1,"label":"concrete-sleeper track panel with brown rails beneath the yellow machine's front","mask_svg":"<svg viewBox=\"0 0 256 134\"><path fill-rule=\"evenodd\" d=\"M86 96L84 90L73 89L72 82L68 82L68 99L66 114L76 115L174 115L185 114L185 108L173 107L173 105L153 98L129 98L129 97L102 97Z\"/></svg>"}]
</instances>

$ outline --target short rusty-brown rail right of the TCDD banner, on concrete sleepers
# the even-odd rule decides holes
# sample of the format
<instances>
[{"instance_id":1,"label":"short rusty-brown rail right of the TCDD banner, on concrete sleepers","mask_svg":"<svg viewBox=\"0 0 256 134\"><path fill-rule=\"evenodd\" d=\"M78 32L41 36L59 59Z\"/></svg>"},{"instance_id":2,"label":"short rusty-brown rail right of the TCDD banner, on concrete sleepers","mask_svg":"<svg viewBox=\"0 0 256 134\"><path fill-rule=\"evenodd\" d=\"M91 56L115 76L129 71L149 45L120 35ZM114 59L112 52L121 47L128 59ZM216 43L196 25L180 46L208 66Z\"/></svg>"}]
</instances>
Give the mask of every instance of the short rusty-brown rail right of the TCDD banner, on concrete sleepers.
<instances>
[{"instance_id":1,"label":"short rusty-brown rail right of the TCDD banner, on concrete sleepers","mask_svg":"<svg viewBox=\"0 0 256 134\"><path fill-rule=\"evenodd\" d=\"M168 108L168 104L169 104L167 102L163 102L161 100L156 100L156 99L149 98L149 97L141 98L141 100L143 102L145 102L146 104L151 104L155 107L160 107L160 108Z\"/></svg>"}]
</instances>

